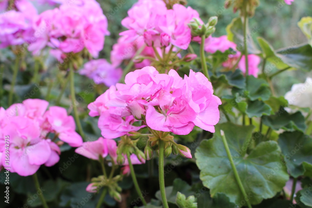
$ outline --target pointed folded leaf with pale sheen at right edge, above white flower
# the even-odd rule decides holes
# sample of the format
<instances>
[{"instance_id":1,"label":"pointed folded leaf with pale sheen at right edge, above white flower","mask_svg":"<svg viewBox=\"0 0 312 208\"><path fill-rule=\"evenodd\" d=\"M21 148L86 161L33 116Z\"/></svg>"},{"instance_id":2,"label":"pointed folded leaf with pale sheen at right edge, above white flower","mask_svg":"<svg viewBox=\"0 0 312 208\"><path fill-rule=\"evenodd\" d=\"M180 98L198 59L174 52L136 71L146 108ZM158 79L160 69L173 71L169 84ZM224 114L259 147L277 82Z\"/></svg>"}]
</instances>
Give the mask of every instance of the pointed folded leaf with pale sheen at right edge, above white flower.
<instances>
[{"instance_id":1,"label":"pointed folded leaf with pale sheen at right edge, above white flower","mask_svg":"<svg viewBox=\"0 0 312 208\"><path fill-rule=\"evenodd\" d=\"M312 70L312 46L310 44L284 48L276 51L280 59L296 69Z\"/></svg>"}]
</instances>

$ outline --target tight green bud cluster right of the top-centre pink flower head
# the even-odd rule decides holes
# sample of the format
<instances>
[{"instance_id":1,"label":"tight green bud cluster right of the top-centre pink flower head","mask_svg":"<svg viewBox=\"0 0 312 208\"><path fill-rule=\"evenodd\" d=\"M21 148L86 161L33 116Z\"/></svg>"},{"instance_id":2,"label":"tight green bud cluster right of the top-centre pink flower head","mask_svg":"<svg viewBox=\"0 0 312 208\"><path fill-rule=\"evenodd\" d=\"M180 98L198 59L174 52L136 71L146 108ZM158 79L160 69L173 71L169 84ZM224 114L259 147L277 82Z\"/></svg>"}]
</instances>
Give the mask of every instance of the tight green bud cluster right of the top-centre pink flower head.
<instances>
[{"instance_id":1,"label":"tight green bud cluster right of the top-centre pink flower head","mask_svg":"<svg viewBox=\"0 0 312 208\"><path fill-rule=\"evenodd\" d=\"M194 21L188 24L188 26L191 28L192 36L205 35L207 38L216 31L215 26L218 22L218 17L216 16L210 17L207 24L201 24L196 18L193 20Z\"/></svg>"}]
</instances>

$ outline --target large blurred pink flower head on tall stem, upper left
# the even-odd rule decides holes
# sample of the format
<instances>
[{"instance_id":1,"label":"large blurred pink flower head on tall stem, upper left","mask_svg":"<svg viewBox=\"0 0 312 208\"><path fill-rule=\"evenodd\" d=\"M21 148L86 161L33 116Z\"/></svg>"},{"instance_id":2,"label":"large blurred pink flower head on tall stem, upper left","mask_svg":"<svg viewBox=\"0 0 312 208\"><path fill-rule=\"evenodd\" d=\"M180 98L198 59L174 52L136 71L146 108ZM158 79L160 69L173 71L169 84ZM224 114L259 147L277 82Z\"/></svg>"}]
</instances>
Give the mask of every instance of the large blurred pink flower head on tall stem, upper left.
<instances>
[{"instance_id":1,"label":"large blurred pink flower head on tall stem, upper left","mask_svg":"<svg viewBox=\"0 0 312 208\"><path fill-rule=\"evenodd\" d=\"M38 55L48 46L53 49L51 53L62 60L64 53L77 53L86 48L97 57L103 49L104 36L110 34L107 25L100 4L95 0L62 4L39 15L34 24L36 38L28 49Z\"/></svg>"}]
</instances>

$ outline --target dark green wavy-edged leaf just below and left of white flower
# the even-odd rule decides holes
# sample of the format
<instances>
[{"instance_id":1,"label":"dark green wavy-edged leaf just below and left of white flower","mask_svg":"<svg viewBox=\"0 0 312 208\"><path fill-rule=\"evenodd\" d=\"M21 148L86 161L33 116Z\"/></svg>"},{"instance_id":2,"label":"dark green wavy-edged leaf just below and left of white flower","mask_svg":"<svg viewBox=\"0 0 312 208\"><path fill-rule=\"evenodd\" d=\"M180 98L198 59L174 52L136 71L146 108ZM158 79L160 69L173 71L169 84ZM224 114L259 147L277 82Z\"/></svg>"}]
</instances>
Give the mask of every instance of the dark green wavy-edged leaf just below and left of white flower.
<instances>
[{"instance_id":1,"label":"dark green wavy-edged leaf just below and left of white flower","mask_svg":"<svg viewBox=\"0 0 312 208\"><path fill-rule=\"evenodd\" d=\"M301 112L289 114L285 109L281 108L275 115L263 116L263 124L274 130L284 129L288 131L305 131L305 117Z\"/></svg>"}]
</instances>

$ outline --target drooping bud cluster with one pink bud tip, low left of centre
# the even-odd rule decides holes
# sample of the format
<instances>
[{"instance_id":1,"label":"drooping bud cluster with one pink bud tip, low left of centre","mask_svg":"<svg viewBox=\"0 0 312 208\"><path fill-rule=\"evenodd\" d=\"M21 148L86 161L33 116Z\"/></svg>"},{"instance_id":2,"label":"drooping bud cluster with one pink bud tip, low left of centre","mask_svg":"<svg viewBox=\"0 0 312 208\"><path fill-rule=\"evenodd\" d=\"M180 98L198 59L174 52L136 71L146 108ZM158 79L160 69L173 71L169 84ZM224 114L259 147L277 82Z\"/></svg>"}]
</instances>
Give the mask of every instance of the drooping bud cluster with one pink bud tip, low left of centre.
<instances>
[{"instance_id":1,"label":"drooping bud cluster with one pink bud tip, low left of centre","mask_svg":"<svg viewBox=\"0 0 312 208\"><path fill-rule=\"evenodd\" d=\"M105 176L99 176L91 179L91 183L87 186L86 190L88 192L96 193L102 187L106 187L108 189L108 193L111 197L113 197L116 201L121 201L121 191L122 188L118 186L118 182L122 180L122 176L117 175L110 179Z\"/></svg>"}]
</instances>

